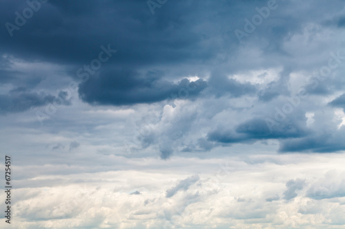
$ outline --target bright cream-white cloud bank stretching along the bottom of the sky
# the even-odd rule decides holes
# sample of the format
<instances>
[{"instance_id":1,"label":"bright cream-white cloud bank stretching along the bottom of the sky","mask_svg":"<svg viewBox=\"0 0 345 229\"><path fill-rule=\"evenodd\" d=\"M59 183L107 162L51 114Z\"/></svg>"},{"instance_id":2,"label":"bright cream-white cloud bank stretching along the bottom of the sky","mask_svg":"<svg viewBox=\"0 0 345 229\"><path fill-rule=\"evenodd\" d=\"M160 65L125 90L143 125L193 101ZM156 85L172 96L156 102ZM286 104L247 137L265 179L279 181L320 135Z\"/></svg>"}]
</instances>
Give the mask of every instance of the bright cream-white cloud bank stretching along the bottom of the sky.
<instances>
[{"instance_id":1,"label":"bright cream-white cloud bank stretching along the bottom of the sky","mask_svg":"<svg viewBox=\"0 0 345 229\"><path fill-rule=\"evenodd\" d=\"M103 167L112 171L81 173L80 166L66 166L65 175L57 173L61 166L49 164L45 174L17 180L16 224L19 228L342 228L344 156L249 157L283 164L246 164L223 157L202 166L204 160L181 162L175 157L163 161L167 171L159 159L108 157L110 163ZM114 166L115 162L121 164ZM133 162L136 171L119 169ZM179 169L188 164L195 167ZM31 167L32 173L41 169Z\"/></svg>"}]
</instances>

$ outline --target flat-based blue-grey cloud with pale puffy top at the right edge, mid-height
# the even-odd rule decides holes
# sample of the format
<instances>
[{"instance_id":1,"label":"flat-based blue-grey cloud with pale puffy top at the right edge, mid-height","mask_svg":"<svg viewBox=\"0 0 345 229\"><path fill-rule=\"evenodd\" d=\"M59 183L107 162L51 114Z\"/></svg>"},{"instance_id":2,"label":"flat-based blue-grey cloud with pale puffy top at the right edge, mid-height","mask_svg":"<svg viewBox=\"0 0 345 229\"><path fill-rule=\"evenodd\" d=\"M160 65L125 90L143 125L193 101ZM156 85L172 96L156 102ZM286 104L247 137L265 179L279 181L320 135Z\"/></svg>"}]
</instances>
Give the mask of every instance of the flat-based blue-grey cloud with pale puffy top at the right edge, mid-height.
<instances>
[{"instance_id":1,"label":"flat-based blue-grey cloud with pale puffy top at the right edge, mid-height","mask_svg":"<svg viewBox=\"0 0 345 229\"><path fill-rule=\"evenodd\" d=\"M342 106L343 97L333 100L331 105ZM313 105L306 106L313 107ZM303 110L302 105L299 105L282 122L275 122L270 128L267 118L254 118L235 127L219 126L208 132L207 140L224 144L239 142L251 144L258 140L277 139L281 153L331 153L345 150L342 140L345 128L339 127L341 120L334 120L334 111L331 109L315 111L313 124L310 126L307 126L305 114L306 111ZM330 119L333 120L327 121Z\"/></svg>"}]
</instances>

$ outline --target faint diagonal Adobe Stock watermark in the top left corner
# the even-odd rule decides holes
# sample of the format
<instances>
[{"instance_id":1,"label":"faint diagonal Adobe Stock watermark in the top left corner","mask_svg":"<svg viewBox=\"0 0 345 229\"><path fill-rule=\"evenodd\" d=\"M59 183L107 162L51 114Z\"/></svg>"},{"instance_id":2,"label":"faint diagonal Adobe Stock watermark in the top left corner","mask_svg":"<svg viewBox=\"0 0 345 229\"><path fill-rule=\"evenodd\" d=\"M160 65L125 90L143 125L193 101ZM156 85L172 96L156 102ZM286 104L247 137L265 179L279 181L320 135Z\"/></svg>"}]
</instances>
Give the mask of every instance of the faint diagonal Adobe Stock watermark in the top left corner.
<instances>
[{"instance_id":1,"label":"faint diagonal Adobe Stock watermark in the top left corner","mask_svg":"<svg viewBox=\"0 0 345 229\"><path fill-rule=\"evenodd\" d=\"M6 22L5 26L8 31L8 34L10 36L13 36L14 30L20 30L24 25L26 25L26 21L32 16L34 16L34 12L39 11L41 9L41 3L46 3L48 0L28 0L26 1L26 4L28 4L28 7L21 12L21 14L16 11L14 14L16 15L16 18L14 19L14 24Z\"/></svg>"}]
</instances>

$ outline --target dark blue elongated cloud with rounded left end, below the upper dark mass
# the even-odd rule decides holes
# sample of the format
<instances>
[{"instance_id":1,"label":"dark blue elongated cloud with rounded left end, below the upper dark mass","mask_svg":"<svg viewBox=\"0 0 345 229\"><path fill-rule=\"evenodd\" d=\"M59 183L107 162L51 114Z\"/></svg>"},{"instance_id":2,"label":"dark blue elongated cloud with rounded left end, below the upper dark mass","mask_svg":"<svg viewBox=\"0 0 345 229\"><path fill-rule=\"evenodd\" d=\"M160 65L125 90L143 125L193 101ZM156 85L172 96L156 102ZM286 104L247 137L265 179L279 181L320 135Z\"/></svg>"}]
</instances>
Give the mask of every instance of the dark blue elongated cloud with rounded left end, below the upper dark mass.
<instances>
[{"instance_id":1,"label":"dark blue elongated cloud with rounded left end, below the upper dark mass","mask_svg":"<svg viewBox=\"0 0 345 229\"><path fill-rule=\"evenodd\" d=\"M193 98L206 87L206 81L190 83L188 79L172 83L162 76L148 73L141 76L126 69L92 77L79 87L83 101L100 105L131 105L166 99Z\"/></svg>"}]
</instances>

